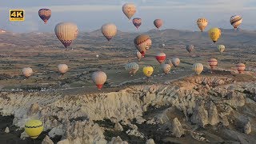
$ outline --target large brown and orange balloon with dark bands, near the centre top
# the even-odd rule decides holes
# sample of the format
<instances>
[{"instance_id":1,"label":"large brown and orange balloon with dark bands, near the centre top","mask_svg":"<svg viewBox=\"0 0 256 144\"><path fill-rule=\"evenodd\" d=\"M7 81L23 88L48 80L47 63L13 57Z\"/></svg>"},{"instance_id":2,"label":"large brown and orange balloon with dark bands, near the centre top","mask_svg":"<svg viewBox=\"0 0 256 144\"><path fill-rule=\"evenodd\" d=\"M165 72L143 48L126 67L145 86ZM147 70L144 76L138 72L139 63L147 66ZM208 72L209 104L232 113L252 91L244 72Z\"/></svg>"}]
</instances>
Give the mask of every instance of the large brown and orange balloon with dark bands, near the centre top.
<instances>
[{"instance_id":1,"label":"large brown and orange balloon with dark bands, near the centre top","mask_svg":"<svg viewBox=\"0 0 256 144\"><path fill-rule=\"evenodd\" d=\"M146 50L150 49L152 41L149 35L141 34L134 38L134 45L137 48L137 50L142 54L142 57L144 57Z\"/></svg>"}]
</instances>

